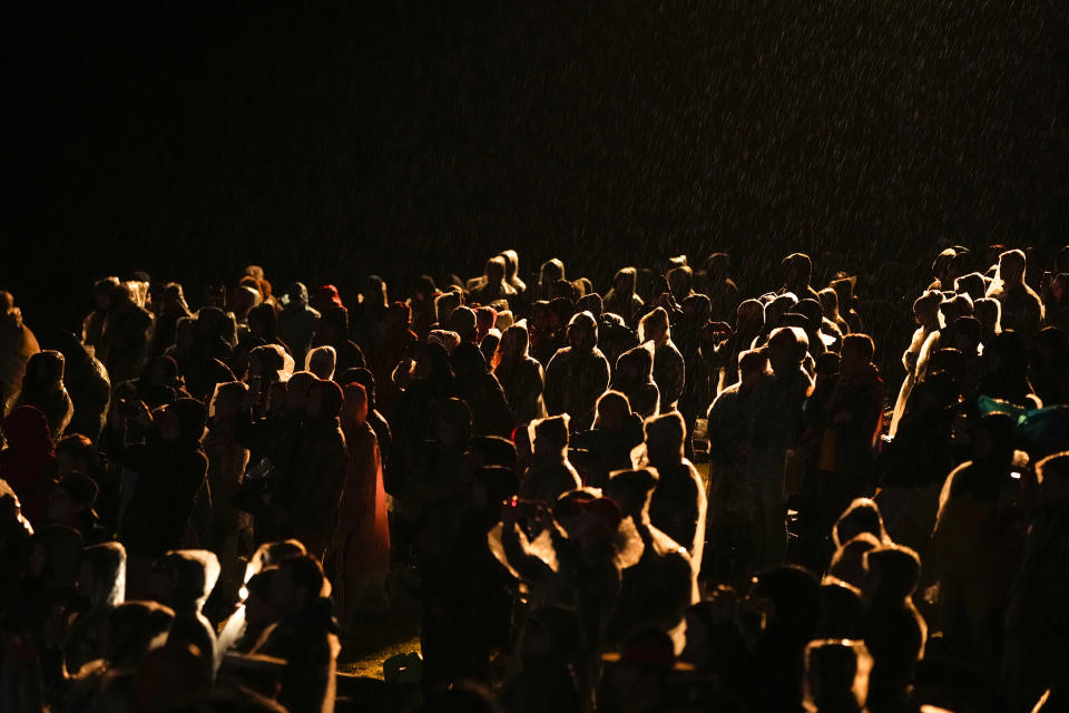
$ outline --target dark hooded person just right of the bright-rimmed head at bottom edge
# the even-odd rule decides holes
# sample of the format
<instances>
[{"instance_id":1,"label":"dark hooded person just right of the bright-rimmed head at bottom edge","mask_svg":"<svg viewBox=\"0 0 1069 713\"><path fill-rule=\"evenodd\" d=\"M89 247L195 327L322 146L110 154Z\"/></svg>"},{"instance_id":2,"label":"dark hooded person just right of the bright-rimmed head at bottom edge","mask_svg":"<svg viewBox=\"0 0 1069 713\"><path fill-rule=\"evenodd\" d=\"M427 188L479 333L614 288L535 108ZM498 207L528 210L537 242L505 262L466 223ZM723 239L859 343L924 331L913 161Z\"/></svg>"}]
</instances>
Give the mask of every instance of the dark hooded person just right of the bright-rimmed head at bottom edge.
<instances>
[{"instance_id":1,"label":"dark hooded person just right of the bright-rimmed head at bottom edge","mask_svg":"<svg viewBox=\"0 0 1069 713\"><path fill-rule=\"evenodd\" d=\"M862 637L873 660L869 709L904 711L928 641L928 625L912 598L921 560L912 549L890 545L865 553L864 567L869 608Z\"/></svg>"}]
</instances>

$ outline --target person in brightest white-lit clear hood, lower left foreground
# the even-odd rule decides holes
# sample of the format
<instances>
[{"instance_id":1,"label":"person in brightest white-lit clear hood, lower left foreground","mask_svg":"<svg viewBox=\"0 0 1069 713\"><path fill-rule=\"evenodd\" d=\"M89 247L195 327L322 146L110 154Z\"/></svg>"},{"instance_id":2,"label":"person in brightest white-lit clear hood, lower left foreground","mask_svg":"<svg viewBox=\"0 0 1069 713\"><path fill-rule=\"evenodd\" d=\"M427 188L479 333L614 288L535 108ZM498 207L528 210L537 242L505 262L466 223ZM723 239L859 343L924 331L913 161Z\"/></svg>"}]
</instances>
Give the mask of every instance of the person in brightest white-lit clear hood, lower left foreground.
<instances>
[{"instance_id":1,"label":"person in brightest white-lit clear hood, lower left foreground","mask_svg":"<svg viewBox=\"0 0 1069 713\"><path fill-rule=\"evenodd\" d=\"M173 550L153 564L153 598L175 613L167 644L195 646L208 678L215 676L222 652L202 609L218 578L219 560L205 549Z\"/></svg>"}]
</instances>

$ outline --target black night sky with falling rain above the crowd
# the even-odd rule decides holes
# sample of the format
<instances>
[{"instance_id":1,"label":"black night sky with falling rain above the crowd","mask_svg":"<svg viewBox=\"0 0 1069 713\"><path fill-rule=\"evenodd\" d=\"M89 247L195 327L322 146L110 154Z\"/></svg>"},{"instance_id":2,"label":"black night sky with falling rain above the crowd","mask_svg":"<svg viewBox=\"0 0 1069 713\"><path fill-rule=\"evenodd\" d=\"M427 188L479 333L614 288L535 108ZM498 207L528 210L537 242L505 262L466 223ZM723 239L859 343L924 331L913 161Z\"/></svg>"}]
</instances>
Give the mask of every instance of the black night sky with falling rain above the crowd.
<instances>
[{"instance_id":1,"label":"black night sky with falling rain above the crowd","mask_svg":"<svg viewBox=\"0 0 1069 713\"><path fill-rule=\"evenodd\" d=\"M136 267L1069 242L1063 2L364 4L6 10L0 282L28 320Z\"/></svg>"}]
</instances>

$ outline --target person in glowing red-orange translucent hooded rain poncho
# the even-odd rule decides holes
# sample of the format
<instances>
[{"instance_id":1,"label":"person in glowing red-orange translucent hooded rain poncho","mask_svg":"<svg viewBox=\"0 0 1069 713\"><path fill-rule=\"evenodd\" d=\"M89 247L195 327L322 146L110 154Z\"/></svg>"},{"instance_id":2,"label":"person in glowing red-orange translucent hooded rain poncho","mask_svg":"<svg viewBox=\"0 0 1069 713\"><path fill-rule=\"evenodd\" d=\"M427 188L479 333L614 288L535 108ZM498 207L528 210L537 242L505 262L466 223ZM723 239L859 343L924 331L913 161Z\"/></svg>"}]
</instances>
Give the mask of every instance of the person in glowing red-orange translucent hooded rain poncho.
<instances>
[{"instance_id":1,"label":"person in glowing red-orange translucent hooded rain poncho","mask_svg":"<svg viewBox=\"0 0 1069 713\"><path fill-rule=\"evenodd\" d=\"M390 526L386 491L382 485L382 456L375 432L367 423L367 392L359 383L350 383L344 397L341 423L347 462L339 527L331 545L334 563L331 580L335 586L342 631L351 631L360 612L381 613L386 606Z\"/></svg>"}]
</instances>

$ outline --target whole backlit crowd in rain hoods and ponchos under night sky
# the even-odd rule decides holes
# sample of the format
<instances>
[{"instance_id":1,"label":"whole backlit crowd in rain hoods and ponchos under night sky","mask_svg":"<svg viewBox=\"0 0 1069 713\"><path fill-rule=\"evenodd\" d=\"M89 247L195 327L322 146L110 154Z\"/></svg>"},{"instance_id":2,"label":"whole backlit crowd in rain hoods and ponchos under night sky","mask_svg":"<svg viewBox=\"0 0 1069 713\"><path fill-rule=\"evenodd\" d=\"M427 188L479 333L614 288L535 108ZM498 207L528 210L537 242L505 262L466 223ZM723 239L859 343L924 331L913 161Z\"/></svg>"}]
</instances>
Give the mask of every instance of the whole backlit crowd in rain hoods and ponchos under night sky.
<instances>
[{"instance_id":1,"label":"whole backlit crowd in rain hoods and ponchos under night sky","mask_svg":"<svg viewBox=\"0 0 1069 713\"><path fill-rule=\"evenodd\" d=\"M831 267L0 292L0 711L1069 710L1069 246Z\"/></svg>"}]
</instances>

